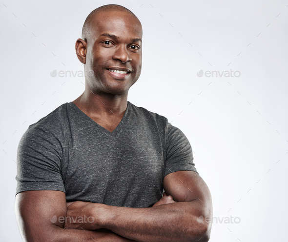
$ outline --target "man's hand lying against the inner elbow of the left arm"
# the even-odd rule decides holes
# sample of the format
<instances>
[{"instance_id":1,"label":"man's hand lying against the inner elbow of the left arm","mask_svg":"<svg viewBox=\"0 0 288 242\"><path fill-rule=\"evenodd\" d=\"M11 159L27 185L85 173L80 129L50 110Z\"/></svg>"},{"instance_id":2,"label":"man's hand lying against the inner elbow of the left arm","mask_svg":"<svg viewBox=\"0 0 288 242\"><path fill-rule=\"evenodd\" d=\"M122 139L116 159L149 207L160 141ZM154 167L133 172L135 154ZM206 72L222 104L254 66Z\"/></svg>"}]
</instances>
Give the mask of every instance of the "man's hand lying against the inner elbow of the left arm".
<instances>
[{"instance_id":1,"label":"man's hand lying against the inner elbow of the left arm","mask_svg":"<svg viewBox=\"0 0 288 242\"><path fill-rule=\"evenodd\" d=\"M100 218L103 204L93 202L67 202L65 228L97 230L101 229ZM97 211L97 212L96 212ZM95 216L97 214L97 216Z\"/></svg>"}]
</instances>

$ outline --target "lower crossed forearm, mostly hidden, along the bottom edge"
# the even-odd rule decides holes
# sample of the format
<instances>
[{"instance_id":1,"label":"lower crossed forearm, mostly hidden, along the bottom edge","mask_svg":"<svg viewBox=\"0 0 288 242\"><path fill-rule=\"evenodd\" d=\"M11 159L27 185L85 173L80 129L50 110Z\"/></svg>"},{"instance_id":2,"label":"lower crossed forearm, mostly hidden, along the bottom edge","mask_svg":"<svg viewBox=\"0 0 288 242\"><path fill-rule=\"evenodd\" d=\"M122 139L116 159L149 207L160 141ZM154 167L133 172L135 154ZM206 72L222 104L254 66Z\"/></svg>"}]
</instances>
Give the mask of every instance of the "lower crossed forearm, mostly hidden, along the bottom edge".
<instances>
[{"instance_id":1,"label":"lower crossed forearm, mostly hidden, along the bottom edge","mask_svg":"<svg viewBox=\"0 0 288 242\"><path fill-rule=\"evenodd\" d=\"M132 242L133 240L124 238L110 230L80 230L80 229L63 229L54 228L54 233L47 238L53 242Z\"/></svg>"}]
</instances>

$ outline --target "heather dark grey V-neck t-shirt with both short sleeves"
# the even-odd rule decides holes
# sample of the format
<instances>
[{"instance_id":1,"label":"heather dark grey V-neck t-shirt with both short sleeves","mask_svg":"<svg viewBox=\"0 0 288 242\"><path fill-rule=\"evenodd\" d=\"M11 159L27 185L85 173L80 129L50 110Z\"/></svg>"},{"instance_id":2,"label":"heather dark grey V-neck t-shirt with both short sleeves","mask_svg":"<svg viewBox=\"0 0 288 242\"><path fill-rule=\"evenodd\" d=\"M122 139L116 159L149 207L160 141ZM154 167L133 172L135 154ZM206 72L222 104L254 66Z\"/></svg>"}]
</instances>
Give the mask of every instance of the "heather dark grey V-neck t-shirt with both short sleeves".
<instances>
[{"instance_id":1,"label":"heather dark grey V-neck t-shirt with both short sleeves","mask_svg":"<svg viewBox=\"0 0 288 242\"><path fill-rule=\"evenodd\" d=\"M174 171L196 171L183 132L164 116L128 101L109 132L72 101L31 124L19 142L16 194L58 190L67 202L149 207Z\"/></svg>"}]
</instances>

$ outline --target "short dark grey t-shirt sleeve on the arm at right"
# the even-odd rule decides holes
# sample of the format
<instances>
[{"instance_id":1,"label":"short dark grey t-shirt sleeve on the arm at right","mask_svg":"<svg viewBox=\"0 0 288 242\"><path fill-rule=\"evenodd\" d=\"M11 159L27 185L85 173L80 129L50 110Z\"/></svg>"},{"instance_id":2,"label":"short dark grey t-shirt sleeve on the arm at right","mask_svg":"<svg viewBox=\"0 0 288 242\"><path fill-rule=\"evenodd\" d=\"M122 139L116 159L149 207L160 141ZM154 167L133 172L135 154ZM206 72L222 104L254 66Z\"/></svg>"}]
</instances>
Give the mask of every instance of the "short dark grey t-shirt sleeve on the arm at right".
<instances>
[{"instance_id":1,"label":"short dark grey t-shirt sleeve on the arm at right","mask_svg":"<svg viewBox=\"0 0 288 242\"><path fill-rule=\"evenodd\" d=\"M165 118L165 175L175 171L195 171L190 142L185 134ZM197 172L198 173L198 172Z\"/></svg>"}]
</instances>

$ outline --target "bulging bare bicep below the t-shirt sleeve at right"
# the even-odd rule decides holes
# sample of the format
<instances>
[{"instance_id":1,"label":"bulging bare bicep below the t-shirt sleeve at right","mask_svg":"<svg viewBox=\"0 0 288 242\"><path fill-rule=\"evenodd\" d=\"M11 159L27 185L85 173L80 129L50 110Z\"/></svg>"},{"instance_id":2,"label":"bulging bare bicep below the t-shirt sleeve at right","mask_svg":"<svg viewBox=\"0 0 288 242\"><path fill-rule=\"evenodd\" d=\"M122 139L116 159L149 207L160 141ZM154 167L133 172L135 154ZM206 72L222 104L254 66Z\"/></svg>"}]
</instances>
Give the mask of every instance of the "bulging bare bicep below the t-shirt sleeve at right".
<instances>
[{"instance_id":1,"label":"bulging bare bicep below the t-shirt sleeve at right","mask_svg":"<svg viewBox=\"0 0 288 242\"><path fill-rule=\"evenodd\" d=\"M199 204L212 210L211 195L204 180L194 171L176 171L164 177L163 187L167 195L171 195L174 201L191 202L199 201Z\"/></svg>"}]
</instances>

